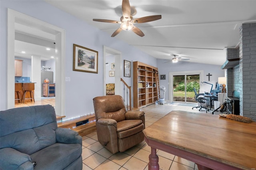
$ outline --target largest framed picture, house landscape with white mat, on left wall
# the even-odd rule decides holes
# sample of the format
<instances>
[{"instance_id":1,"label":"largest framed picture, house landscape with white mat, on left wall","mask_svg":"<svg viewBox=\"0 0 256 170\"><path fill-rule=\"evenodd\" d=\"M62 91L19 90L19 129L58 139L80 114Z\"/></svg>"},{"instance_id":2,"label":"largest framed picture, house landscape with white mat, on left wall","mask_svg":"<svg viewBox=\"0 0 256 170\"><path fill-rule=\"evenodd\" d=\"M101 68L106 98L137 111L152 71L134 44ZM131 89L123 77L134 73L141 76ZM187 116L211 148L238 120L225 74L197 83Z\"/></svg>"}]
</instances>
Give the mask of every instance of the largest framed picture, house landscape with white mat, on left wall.
<instances>
[{"instance_id":1,"label":"largest framed picture, house landscape with white mat, on left wall","mask_svg":"<svg viewBox=\"0 0 256 170\"><path fill-rule=\"evenodd\" d=\"M98 73L98 51L73 44L73 71Z\"/></svg>"}]
</instances>

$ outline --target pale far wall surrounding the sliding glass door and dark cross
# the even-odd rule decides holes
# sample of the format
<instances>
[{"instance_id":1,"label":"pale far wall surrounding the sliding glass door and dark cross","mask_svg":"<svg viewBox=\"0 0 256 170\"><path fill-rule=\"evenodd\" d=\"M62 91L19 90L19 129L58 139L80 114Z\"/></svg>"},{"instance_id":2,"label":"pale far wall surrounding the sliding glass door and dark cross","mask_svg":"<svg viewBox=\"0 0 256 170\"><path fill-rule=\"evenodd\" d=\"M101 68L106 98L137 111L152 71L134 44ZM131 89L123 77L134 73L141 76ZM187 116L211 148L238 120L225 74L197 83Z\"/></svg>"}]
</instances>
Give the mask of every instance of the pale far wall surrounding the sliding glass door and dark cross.
<instances>
[{"instance_id":1,"label":"pale far wall surrounding the sliding glass door and dark cross","mask_svg":"<svg viewBox=\"0 0 256 170\"><path fill-rule=\"evenodd\" d=\"M213 84L213 88L215 89L215 84L218 82L218 77L224 77L225 76L225 70L222 70L220 65L211 65L211 64L201 64L201 63L191 63L191 62L185 62L185 61L178 61L178 63L172 63L172 61L167 62L163 59L157 59L157 67L159 75L166 75L165 80L160 80L159 84L160 86L163 85L166 87L166 93L165 93L165 100L170 101L169 99L169 73L170 72L178 72L178 71L196 71L196 70L203 70L204 71L204 77L201 77L202 81L206 81L207 83ZM208 73L210 73L212 76L210 76L210 81L208 81ZM211 88L211 85L203 83L200 87L201 89L208 89Z\"/></svg>"}]
</instances>

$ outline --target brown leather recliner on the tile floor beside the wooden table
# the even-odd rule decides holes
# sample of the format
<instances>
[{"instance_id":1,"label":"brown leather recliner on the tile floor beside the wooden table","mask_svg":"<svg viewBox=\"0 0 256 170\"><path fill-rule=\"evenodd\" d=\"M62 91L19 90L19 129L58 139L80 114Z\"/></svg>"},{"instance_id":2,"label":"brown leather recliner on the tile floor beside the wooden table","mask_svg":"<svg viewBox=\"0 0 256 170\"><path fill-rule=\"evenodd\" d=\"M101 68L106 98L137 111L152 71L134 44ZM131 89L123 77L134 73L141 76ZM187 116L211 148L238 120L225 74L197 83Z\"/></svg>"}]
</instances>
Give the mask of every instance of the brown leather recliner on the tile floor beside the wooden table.
<instances>
[{"instance_id":1,"label":"brown leather recliner on the tile floor beside the wooden table","mask_svg":"<svg viewBox=\"0 0 256 170\"><path fill-rule=\"evenodd\" d=\"M120 95L95 97L93 105L98 140L110 152L124 152L144 140L145 113L127 111Z\"/></svg>"}]
</instances>

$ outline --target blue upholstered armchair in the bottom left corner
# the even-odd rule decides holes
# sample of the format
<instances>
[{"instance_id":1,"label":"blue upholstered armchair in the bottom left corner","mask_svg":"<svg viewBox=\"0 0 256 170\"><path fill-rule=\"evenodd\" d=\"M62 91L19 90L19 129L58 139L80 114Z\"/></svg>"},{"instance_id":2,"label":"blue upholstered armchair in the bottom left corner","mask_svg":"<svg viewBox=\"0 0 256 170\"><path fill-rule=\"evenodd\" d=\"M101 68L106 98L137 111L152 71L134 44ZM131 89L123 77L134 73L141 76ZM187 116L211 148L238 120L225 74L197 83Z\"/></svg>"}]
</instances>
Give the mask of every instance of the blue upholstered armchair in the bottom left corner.
<instances>
[{"instance_id":1,"label":"blue upholstered armchair in the bottom left corner","mask_svg":"<svg viewBox=\"0 0 256 170\"><path fill-rule=\"evenodd\" d=\"M57 127L51 105L0 111L1 170L82 170L81 155L82 137Z\"/></svg>"}]
</instances>

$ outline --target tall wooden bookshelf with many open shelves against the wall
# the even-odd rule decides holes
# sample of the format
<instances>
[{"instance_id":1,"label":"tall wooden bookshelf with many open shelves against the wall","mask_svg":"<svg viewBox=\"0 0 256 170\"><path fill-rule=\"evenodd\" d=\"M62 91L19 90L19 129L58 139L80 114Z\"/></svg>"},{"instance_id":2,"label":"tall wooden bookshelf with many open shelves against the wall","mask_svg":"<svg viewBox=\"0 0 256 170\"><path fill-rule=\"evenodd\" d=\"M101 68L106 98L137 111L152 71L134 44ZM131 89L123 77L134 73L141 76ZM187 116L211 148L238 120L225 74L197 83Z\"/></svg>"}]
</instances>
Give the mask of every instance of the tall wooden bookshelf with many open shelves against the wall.
<instances>
[{"instance_id":1,"label":"tall wooden bookshelf with many open shelves against the wall","mask_svg":"<svg viewBox=\"0 0 256 170\"><path fill-rule=\"evenodd\" d=\"M159 98L158 68L133 62L133 106L141 108L155 103Z\"/></svg>"}]
</instances>

